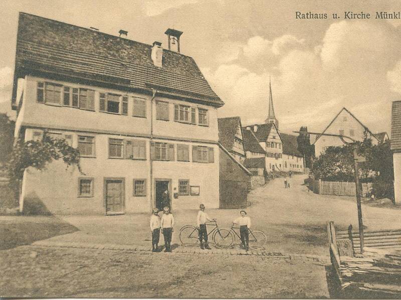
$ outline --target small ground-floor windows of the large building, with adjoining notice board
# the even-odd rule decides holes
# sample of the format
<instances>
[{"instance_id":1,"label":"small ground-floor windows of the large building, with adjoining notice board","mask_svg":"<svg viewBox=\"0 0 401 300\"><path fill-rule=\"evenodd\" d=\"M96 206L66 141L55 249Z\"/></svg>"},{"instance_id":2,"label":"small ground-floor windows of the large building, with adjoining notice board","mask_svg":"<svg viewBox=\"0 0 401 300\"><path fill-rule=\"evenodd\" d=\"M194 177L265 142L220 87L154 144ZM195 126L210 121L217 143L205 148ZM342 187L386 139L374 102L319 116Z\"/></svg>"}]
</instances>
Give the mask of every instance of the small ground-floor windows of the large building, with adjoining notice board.
<instances>
[{"instance_id":1,"label":"small ground-floor windows of the large building, with adjoining notice board","mask_svg":"<svg viewBox=\"0 0 401 300\"><path fill-rule=\"evenodd\" d=\"M133 179L133 196L146 196L146 179ZM78 196L93 197L94 194L94 178L78 179ZM199 195L199 186L190 186L188 179L178 180L179 195Z\"/></svg>"}]
</instances>

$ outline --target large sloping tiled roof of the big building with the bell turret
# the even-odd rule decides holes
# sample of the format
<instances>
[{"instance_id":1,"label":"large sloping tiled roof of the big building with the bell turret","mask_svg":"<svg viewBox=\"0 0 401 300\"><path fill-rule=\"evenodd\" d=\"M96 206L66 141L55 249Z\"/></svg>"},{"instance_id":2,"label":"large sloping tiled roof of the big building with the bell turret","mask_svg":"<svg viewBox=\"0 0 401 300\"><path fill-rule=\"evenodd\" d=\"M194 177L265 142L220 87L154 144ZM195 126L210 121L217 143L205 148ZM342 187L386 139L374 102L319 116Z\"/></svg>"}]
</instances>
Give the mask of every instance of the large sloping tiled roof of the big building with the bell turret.
<instances>
[{"instance_id":1,"label":"large sloping tiled roof of the big building with the bell turret","mask_svg":"<svg viewBox=\"0 0 401 300\"><path fill-rule=\"evenodd\" d=\"M163 49L162 67L151 45L20 12L16 72L54 73L158 90L221 106L193 58Z\"/></svg>"}]
</instances>

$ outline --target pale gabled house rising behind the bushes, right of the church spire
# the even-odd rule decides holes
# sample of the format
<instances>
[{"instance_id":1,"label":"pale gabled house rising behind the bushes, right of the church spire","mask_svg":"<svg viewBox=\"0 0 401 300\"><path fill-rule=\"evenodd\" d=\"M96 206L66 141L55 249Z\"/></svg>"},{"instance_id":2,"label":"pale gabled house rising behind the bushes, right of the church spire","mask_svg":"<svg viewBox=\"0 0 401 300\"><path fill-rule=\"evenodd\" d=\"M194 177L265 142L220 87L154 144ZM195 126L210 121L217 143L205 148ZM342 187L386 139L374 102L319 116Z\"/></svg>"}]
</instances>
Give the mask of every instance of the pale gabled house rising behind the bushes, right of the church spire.
<instances>
[{"instance_id":1,"label":"pale gabled house rising behind the bushes, right of the church spire","mask_svg":"<svg viewBox=\"0 0 401 300\"><path fill-rule=\"evenodd\" d=\"M381 134L383 135L382 137L377 137L345 107L337 113L322 133L341 134L359 141L362 141L366 135L371 138L373 144L381 142L387 135L383 132L385 134ZM351 142L352 140L346 139L346 141ZM313 143L315 147L315 156L319 156L330 146L342 146L343 144L344 143L338 136L317 135Z\"/></svg>"}]
</instances>

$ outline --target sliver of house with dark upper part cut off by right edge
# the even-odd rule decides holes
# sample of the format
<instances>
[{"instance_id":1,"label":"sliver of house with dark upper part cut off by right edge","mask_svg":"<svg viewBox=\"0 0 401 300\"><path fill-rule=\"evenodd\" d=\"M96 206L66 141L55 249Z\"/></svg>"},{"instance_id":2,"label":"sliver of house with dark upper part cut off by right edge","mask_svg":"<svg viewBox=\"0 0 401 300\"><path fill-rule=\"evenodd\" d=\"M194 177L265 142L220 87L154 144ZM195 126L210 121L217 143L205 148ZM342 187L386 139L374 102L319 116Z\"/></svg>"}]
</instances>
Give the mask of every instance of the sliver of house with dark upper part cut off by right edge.
<instances>
[{"instance_id":1,"label":"sliver of house with dark upper part cut off by right edge","mask_svg":"<svg viewBox=\"0 0 401 300\"><path fill-rule=\"evenodd\" d=\"M392 102L390 148L394 167L394 201L401 203L401 101Z\"/></svg>"}]
</instances>

